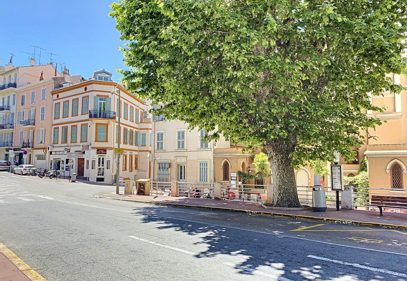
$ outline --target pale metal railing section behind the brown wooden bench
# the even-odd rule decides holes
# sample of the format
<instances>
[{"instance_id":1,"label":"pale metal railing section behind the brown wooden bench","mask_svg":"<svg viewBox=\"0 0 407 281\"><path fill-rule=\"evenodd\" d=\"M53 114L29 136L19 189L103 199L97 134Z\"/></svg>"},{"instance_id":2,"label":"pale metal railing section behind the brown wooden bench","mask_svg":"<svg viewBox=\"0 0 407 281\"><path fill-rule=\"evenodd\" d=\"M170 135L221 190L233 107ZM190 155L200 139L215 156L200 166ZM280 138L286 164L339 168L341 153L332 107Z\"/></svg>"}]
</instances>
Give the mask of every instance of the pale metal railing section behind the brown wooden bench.
<instances>
[{"instance_id":1,"label":"pale metal railing section behind the brown wooden bench","mask_svg":"<svg viewBox=\"0 0 407 281\"><path fill-rule=\"evenodd\" d=\"M354 209L377 209L383 211L400 210L407 213L407 193L401 188L353 188L352 203Z\"/></svg>"}]
</instances>

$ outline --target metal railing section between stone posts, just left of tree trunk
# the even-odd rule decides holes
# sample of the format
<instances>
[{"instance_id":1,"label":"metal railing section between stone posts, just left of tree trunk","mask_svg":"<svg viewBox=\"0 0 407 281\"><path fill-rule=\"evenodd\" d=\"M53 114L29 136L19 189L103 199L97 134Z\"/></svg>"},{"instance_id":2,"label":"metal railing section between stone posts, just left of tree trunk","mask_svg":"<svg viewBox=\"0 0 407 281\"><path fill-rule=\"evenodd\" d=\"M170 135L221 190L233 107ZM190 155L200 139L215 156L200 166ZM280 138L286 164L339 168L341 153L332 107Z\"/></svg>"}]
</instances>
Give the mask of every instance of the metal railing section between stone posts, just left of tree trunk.
<instances>
[{"instance_id":1,"label":"metal railing section between stone posts, just left of tree trunk","mask_svg":"<svg viewBox=\"0 0 407 281\"><path fill-rule=\"evenodd\" d=\"M266 203L267 185L221 184L221 198L242 202Z\"/></svg>"}]
</instances>

